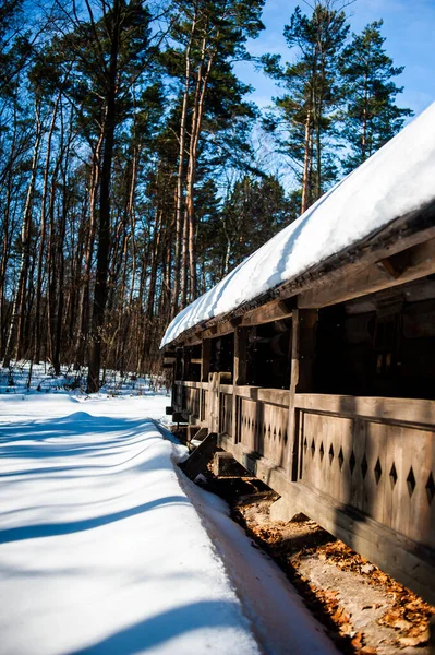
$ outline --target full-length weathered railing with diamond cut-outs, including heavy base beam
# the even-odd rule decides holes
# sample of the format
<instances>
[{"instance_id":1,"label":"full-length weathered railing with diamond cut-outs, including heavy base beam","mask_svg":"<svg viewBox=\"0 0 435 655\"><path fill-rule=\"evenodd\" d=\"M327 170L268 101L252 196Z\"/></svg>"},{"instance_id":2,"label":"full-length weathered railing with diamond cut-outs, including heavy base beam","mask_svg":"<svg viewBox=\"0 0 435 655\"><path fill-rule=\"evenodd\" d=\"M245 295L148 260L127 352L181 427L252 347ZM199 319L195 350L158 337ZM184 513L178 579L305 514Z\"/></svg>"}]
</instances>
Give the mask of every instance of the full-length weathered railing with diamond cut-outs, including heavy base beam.
<instances>
[{"instance_id":1,"label":"full-length weathered railing with diamond cut-outs, including heavy base beam","mask_svg":"<svg viewBox=\"0 0 435 655\"><path fill-rule=\"evenodd\" d=\"M174 395L295 513L435 602L434 401L292 394L218 374Z\"/></svg>"}]
</instances>

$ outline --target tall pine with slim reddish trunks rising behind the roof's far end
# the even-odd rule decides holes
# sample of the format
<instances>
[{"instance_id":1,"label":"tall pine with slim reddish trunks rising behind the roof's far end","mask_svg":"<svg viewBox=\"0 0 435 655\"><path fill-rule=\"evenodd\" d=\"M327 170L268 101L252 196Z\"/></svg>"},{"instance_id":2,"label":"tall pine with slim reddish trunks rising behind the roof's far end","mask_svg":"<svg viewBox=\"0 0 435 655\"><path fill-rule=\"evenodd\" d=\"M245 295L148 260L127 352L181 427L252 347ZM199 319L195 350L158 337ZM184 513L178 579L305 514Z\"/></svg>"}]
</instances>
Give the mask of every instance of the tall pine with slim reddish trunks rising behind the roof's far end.
<instances>
[{"instance_id":1,"label":"tall pine with slim reddish trunks rising behind the roof's far end","mask_svg":"<svg viewBox=\"0 0 435 655\"><path fill-rule=\"evenodd\" d=\"M172 314L197 296L195 186L204 131L222 130L246 106L232 71L234 59L247 59L245 43L264 27L264 0L178 0L166 53L170 74L180 86L179 162L176 191L176 275ZM223 129L225 129L223 128ZM179 274L180 272L180 274Z\"/></svg>"}]
</instances>

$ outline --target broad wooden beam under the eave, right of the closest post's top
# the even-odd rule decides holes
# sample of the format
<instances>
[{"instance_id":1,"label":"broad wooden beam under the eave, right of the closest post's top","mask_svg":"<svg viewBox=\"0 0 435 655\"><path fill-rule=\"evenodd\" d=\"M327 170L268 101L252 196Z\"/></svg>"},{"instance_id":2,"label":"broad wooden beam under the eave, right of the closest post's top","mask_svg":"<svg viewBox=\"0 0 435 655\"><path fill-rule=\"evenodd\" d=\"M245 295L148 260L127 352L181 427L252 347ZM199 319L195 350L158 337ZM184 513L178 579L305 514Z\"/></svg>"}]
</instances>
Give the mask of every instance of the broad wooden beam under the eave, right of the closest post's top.
<instances>
[{"instance_id":1,"label":"broad wooden beam under the eave, right of the closest post's top","mask_svg":"<svg viewBox=\"0 0 435 655\"><path fill-rule=\"evenodd\" d=\"M359 269L335 284L304 291L298 307L310 309L345 302L435 273L435 238Z\"/></svg>"}]
</instances>

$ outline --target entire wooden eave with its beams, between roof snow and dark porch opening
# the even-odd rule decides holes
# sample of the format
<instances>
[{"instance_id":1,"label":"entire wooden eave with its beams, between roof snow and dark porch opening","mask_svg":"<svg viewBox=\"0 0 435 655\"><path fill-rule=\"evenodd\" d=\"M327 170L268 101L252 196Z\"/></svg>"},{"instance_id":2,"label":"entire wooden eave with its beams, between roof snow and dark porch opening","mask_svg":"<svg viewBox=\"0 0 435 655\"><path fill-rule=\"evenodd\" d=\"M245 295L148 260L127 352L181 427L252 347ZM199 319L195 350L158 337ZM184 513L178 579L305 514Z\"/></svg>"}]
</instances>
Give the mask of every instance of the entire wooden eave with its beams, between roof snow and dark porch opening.
<instances>
[{"instance_id":1,"label":"entire wooden eave with its beams, between roof snow and dark porch opening","mask_svg":"<svg viewBox=\"0 0 435 655\"><path fill-rule=\"evenodd\" d=\"M425 248L419 248L426 243ZM409 254L401 261L396 255L404 251ZM164 349L198 344L237 327L285 319L295 307L326 307L432 273L435 273L435 201L395 218L386 227L231 312L185 330Z\"/></svg>"}]
</instances>

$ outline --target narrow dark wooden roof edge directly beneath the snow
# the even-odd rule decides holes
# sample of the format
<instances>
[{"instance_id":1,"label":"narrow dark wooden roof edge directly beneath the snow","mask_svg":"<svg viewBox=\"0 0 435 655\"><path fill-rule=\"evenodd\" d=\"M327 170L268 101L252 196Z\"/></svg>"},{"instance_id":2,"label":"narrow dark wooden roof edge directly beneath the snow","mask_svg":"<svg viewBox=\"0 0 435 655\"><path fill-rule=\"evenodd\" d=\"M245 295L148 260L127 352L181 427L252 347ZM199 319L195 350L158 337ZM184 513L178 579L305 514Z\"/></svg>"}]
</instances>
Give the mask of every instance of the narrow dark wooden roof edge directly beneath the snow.
<instances>
[{"instance_id":1,"label":"narrow dark wooden roof edge directly beneath the snow","mask_svg":"<svg viewBox=\"0 0 435 655\"><path fill-rule=\"evenodd\" d=\"M317 285L329 284L337 277L346 275L348 270L374 264L433 237L435 237L435 201L404 216L392 219L387 226L375 230L368 237L364 237L364 239L349 248L311 266L305 273L268 289L247 302L239 305L232 311L196 323L196 325L189 327L179 334L177 338L166 344L162 349L180 346L195 336L197 342L201 342L201 333L221 323L232 321L232 327L235 329L238 319L263 305L277 300L285 301Z\"/></svg>"}]
</instances>

